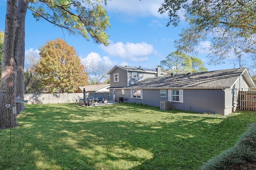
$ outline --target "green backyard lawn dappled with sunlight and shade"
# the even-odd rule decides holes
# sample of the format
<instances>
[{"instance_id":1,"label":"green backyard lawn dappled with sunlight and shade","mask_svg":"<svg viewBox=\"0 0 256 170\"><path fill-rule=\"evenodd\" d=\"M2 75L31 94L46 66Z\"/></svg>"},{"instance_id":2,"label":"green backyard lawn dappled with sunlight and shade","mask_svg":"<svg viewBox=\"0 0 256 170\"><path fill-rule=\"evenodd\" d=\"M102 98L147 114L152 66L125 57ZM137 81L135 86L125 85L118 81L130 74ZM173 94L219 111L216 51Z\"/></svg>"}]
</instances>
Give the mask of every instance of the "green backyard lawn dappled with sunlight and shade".
<instances>
[{"instance_id":1,"label":"green backyard lawn dappled with sunlight and shade","mask_svg":"<svg viewBox=\"0 0 256 170\"><path fill-rule=\"evenodd\" d=\"M0 170L196 170L232 147L256 113L229 116L114 104L26 105L0 130Z\"/></svg>"}]
</instances>

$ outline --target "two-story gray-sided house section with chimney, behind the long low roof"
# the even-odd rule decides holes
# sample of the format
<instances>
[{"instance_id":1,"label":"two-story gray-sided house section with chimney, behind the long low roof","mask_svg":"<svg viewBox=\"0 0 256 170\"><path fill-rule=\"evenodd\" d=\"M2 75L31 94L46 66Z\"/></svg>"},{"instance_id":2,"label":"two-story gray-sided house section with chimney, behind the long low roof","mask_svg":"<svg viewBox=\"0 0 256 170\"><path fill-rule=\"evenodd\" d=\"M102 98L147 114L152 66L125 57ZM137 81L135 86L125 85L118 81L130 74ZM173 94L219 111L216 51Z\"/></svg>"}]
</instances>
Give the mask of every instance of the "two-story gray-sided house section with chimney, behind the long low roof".
<instances>
[{"instance_id":1,"label":"two-story gray-sided house section with chimney, behind the long low roof","mask_svg":"<svg viewBox=\"0 0 256 170\"><path fill-rule=\"evenodd\" d=\"M149 77L166 76L165 72L161 72L160 67L155 69L119 66L115 65L109 72L110 75L110 100L115 100L115 88L122 88L130 86L140 80L144 80ZM119 91L119 90L118 90ZM122 93L122 91L120 91Z\"/></svg>"}]
</instances>

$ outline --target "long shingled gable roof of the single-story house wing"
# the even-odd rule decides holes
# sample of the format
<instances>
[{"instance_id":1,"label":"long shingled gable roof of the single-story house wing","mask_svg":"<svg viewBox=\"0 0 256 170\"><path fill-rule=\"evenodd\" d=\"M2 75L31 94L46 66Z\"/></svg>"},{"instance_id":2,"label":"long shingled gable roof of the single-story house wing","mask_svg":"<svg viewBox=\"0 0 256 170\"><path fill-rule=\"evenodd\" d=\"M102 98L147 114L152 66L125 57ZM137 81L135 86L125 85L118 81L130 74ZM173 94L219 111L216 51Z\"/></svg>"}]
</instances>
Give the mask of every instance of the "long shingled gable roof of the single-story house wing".
<instances>
[{"instance_id":1,"label":"long shingled gable roof of the single-story house wing","mask_svg":"<svg viewBox=\"0 0 256 170\"><path fill-rule=\"evenodd\" d=\"M247 68L234 68L146 78L126 88L232 88L241 75L250 87L255 86Z\"/></svg>"}]
</instances>

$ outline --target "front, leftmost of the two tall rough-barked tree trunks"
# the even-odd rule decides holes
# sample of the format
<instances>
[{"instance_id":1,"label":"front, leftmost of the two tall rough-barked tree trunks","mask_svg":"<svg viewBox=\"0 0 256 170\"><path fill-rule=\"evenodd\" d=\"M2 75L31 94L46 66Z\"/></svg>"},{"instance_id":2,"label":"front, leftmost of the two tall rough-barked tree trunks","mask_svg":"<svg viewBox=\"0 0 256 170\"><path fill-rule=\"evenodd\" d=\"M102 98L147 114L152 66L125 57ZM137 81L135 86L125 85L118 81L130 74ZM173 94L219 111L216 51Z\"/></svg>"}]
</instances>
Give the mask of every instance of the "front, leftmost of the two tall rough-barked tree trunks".
<instances>
[{"instance_id":1,"label":"front, leftmost of the two tall rough-barked tree trunks","mask_svg":"<svg viewBox=\"0 0 256 170\"><path fill-rule=\"evenodd\" d=\"M17 0L7 0L4 47L2 60L2 76L0 87L0 129L15 127L18 125L16 115L6 109L6 104L10 104L11 108L15 106L15 90L14 90L14 30L16 20Z\"/></svg>"}]
</instances>

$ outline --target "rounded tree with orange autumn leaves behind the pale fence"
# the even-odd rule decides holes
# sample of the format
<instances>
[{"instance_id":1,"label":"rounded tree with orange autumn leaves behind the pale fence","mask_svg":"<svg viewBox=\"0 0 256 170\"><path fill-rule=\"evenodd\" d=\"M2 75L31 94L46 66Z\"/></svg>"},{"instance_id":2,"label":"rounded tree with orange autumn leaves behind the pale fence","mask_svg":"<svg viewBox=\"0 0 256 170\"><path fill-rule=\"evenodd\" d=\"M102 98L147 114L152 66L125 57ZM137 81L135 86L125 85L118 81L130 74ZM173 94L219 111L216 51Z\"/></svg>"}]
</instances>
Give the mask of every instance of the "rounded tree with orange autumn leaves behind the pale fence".
<instances>
[{"instance_id":1,"label":"rounded tree with orange autumn leaves behind the pale fence","mask_svg":"<svg viewBox=\"0 0 256 170\"><path fill-rule=\"evenodd\" d=\"M42 76L45 92L74 92L78 86L88 84L84 66L74 47L62 39L49 41L40 48L36 72Z\"/></svg>"}]
</instances>

